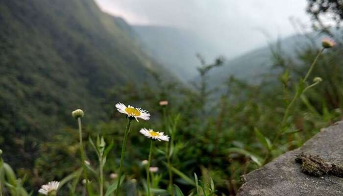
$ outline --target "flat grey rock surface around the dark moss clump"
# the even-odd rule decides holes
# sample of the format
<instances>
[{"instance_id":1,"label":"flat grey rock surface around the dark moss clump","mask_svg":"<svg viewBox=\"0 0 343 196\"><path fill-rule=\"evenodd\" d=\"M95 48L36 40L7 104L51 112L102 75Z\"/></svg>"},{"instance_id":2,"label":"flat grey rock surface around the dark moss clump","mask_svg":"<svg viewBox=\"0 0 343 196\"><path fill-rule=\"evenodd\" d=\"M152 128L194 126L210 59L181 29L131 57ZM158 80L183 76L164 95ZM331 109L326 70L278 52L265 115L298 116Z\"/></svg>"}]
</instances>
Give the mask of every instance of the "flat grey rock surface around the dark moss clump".
<instances>
[{"instance_id":1,"label":"flat grey rock surface around the dark moss clump","mask_svg":"<svg viewBox=\"0 0 343 196\"><path fill-rule=\"evenodd\" d=\"M237 196L343 196L343 178L300 172L295 155L304 152L343 164L343 121L322 129L302 147L289 151L244 176Z\"/></svg>"}]
</instances>

